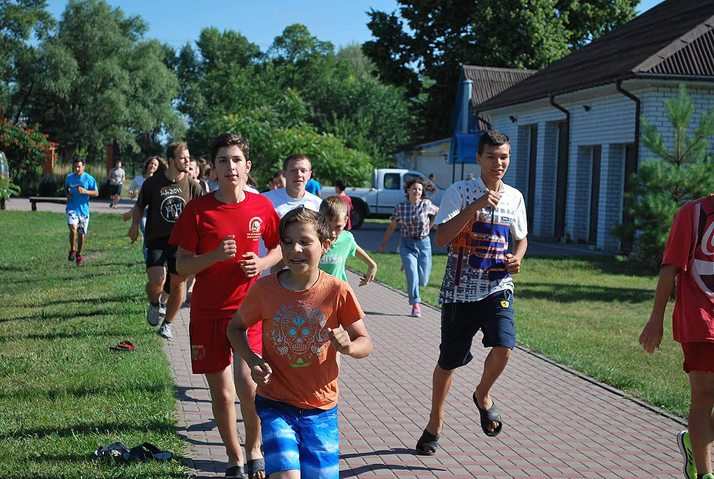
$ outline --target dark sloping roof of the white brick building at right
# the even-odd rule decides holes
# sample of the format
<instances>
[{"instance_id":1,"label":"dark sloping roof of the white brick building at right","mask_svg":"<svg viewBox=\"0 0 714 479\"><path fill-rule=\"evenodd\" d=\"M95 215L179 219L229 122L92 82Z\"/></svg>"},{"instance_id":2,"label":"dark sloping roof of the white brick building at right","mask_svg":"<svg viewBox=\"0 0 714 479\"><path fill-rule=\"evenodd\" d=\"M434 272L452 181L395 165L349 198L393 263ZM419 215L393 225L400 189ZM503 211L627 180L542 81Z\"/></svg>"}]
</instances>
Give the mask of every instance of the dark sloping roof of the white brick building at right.
<instances>
[{"instance_id":1,"label":"dark sloping roof of the white brick building at right","mask_svg":"<svg viewBox=\"0 0 714 479\"><path fill-rule=\"evenodd\" d=\"M667 0L510 89L478 111L525 103L618 79L714 75L714 0Z\"/></svg>"}]
</instances>

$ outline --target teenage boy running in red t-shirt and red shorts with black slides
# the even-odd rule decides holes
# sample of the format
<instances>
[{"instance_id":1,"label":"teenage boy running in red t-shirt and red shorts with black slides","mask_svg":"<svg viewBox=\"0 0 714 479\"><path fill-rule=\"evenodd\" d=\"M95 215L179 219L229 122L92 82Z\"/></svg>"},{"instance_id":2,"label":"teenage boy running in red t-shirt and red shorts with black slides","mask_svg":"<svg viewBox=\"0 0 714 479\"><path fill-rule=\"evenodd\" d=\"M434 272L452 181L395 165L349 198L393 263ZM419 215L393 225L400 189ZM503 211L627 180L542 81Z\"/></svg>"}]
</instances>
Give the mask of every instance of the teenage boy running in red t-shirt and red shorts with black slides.
<instances>
[{"instance_id":1,"label":"teenage boy running in red t-shirt and red shorts with black slides","mask_svg":"<svg viewBox=\"0 0 714 479\"><path fill-rule=\"evenodd\" d=\"M218 190L190 201L178 217L170 243L178 246L176 269L196 274L191 298L191 368L206 375L218 432L228 454L226 478L243 478L243 455L236 430L236 390L246 425L246 456L251 479L264 478L260 422L254 398L256 385L248 365L236 359L231 374L231 344L226 328L248 288L281 258L280 218L265 197L245 191L251 161L248 143L232 133L213 142L211 163ZM258 257L258 238L268 248ZM261 352L261 328L248 331L253 351Z\"/></svg>"}]
</instances>

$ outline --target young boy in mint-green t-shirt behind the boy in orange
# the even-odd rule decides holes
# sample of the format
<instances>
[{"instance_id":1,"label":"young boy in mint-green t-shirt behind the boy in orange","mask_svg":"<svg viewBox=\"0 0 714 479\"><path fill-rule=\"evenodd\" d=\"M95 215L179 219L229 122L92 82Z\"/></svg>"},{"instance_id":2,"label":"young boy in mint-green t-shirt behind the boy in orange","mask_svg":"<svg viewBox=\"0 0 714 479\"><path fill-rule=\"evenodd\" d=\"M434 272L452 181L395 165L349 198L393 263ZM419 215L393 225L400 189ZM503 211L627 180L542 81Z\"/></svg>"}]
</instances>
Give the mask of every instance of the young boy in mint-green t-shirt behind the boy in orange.
<instances>
[{"instance_id":1,"label":"young boy in mint-green t-shirt behind the boy in orange","mask_svg":"<svg viewBox=\"0 0 714 479\"><path fill-rule=\"evenodd\" d=\"M358 260L367 265L367 273L362 276L359 286L368 284L377 274L377 263L358 246L352 233L345 231L347 203L339 196L328 196L323 199L320 205L320 213L330 225L332 245L320 259L319 268L335 278L347 281L345 261L347 261L348 256L356 256Z\"/></svg>"}]
</instances>

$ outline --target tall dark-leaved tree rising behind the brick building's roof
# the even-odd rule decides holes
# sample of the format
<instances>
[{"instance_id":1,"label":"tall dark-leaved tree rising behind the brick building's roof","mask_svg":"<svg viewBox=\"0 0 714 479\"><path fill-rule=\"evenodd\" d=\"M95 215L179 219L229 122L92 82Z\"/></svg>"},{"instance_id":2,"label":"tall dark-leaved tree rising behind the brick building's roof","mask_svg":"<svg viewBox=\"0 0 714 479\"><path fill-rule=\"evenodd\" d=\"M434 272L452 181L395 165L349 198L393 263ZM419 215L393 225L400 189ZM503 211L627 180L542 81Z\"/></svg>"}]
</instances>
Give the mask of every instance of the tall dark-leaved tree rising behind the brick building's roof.
<instances>
[{"instance_id":1,"label":"tall dark-leaved tree rising behind the brick building's roof","mask_svg":"<svg viewBox=\"0 0 714 479\"><path fill-rule=\"evenodd\" d=\"M400 0L372 9L363 44L380 78L426 92L424 139L446 136L463 64L541 69L635 16L639 0ZM425 88L425 79L433 85Z\"/></svg>"}]
</instances>

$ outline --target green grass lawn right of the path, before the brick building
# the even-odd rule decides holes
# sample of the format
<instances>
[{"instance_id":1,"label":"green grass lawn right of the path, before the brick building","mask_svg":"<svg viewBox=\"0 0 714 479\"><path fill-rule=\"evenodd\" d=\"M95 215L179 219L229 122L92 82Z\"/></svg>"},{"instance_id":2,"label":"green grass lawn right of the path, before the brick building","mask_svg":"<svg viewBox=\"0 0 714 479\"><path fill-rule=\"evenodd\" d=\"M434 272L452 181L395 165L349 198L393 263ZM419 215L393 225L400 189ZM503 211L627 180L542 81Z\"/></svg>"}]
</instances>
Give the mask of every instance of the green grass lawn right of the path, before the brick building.
<instances>
[{"instance_id":1,"label":"green grass lawn right of the path, before the brick building","mask_svg":"<svg viewBox=\"0 0 714 479\"><path fill-rule=\"evenodd\" d=\"M378 263L377 280L406 291L397 253L370 253ZM433 256L422 301L438 306L446 256ZM348 267L364 271L350 258ZM682 350L672 339L671 311L665 337L653 355L638 343L650 317L655 276L643 275L615 258L529 258L516 283L516 339L522 346L586 375L620 388L648 403L685 417L689 385ZM405 311L408 310L406 301Z\"/></svg>"}]
</instances>

